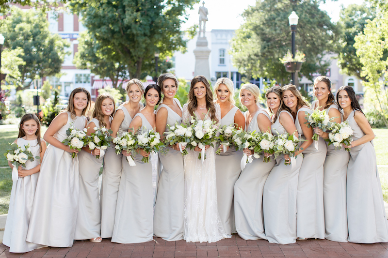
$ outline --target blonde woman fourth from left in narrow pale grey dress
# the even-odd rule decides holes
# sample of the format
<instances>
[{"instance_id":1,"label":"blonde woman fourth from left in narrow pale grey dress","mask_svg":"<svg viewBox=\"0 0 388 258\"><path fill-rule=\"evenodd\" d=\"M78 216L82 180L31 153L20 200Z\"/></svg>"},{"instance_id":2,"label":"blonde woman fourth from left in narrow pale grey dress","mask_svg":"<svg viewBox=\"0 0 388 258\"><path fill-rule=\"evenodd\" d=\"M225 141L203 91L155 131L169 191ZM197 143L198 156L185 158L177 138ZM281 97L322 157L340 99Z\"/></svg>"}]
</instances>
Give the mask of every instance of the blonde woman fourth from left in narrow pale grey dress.
<instances>
[{"instance_id":1,"label":"blonde woman fourth from left in narrow pale grey dress","mask_svg":"<svg viewBox=\"0 0 388 258\"><path fill-rule=\"evenodd\" d=\"M126 92L129 100L119 106L114 115L111 129L112 137L121 136L129 129L129 124L136 113L143 106L140 103L144 93L143 84L138 79L131 79L127 83ZM102 183L100 190L101 208L101 237L113 236L114 216L116 212L117 194L122 171L122 154L116 154L114 144L106 150L104 156L104 169L102 170Z\"/></svg>"}]
</instances>

